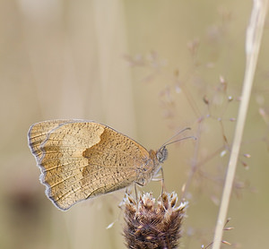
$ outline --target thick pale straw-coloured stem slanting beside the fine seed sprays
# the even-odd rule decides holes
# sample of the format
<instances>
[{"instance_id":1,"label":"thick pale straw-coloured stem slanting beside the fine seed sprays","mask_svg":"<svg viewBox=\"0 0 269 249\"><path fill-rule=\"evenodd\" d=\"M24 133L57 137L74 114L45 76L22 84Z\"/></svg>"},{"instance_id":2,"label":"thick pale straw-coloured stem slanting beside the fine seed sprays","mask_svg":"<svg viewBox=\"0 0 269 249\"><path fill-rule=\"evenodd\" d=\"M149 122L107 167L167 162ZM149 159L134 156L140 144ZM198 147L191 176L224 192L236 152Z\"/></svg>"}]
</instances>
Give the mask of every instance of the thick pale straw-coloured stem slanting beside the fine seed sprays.
<instances>
[{"instance_id":1,"label":"thick pale straw-coloured stem slanting beside the fine seed sprays","mask_svg":"<svg viewBox=\"0 0 269 249\"><path fill-rule=\"evenodd\" d=\"M230 162L225 180L225 185L221 198L221 207L215 234L213 239L213 249L221 247L223 226L225 224L228 206L230 202L230 193L235 176L237 161L239 157L239 148L242 141L242 134L247 116L247 107L251 94L253 79L256 71L256 62L261 44L262 34L265 25L265 16L267 11L267 0L254 0L249 25L246 36L246 70L243 83L242 98L239 107L239 118L236 125L234 142L230 153Z\"/></svg>"}]
</instances>

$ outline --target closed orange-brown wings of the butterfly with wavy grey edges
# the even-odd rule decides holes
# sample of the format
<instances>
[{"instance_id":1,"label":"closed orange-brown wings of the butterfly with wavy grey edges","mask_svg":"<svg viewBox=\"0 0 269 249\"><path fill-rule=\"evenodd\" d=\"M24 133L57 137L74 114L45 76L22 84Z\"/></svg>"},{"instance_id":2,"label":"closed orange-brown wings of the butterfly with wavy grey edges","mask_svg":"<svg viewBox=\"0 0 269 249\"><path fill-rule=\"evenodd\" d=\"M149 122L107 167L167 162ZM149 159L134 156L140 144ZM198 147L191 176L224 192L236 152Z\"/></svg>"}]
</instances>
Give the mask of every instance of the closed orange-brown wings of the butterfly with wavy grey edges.
<instances>
[{"instance_id":1,"label":"closed orange-brown wings of the butterfly with wavy grey edges","mask_svg":"<svg viewBox=\"0 0 269 249\"><path fill-rule=\"evenodd\" d=\"M29 144L48 198L62 210L131 185L149 159L134 140L91 121L40 122L30 127Z\"/></svg>"}]
</instances>

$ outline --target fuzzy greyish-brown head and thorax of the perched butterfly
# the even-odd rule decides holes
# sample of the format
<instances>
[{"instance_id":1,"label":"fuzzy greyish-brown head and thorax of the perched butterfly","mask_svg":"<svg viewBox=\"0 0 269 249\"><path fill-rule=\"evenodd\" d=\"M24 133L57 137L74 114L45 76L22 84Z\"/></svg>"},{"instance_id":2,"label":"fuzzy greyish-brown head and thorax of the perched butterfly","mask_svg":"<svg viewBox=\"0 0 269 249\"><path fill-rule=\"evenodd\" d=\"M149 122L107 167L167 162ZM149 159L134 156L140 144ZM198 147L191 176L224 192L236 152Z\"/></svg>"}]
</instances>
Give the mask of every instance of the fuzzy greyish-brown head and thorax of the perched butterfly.
<instances>
[{"instance_id":1,"label":"fuzzy greyish-brown head and thorax of the perched butterfly","mask_svg":"<svg viewBox=\"0 0 269 249\"><path fill-rule=\"evenodd\" d=\"M155 176L160 170L161 163L168 157L168 150L161 147L159 150L150 150L149 158L145 159L143 166L137 169L136 183L138 185L147 185L152 177Z\"/></svg>"}]
</instances>

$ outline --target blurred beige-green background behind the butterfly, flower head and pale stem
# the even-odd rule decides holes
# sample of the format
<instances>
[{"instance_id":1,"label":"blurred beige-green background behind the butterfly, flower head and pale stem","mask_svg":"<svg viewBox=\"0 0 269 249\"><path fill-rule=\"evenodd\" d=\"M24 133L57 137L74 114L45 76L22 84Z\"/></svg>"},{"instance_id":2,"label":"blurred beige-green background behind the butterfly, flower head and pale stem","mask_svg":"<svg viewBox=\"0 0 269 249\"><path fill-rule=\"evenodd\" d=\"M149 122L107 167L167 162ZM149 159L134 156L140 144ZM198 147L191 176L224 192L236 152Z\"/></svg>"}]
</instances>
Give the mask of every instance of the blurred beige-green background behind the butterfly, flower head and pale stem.
<instances>
[{"instance_id":1,"label":"blurred beige-green background behind the butterfly, flower head and pale stem","mask_svg":"<svg viewBox=\"0 0 269 249\"><path fill-rule=\"evenodd\" d=\"M188 202L181 246L213 240L245 69L252 1L0 1L0 247L126 248L125 191L60 211L27 144L33 123L95 120L158 149L168 192ZM223 239L265 248L269 234L268 18ZM251 156L251 157L250 157ZM158 198L161 185L141 191ZM112 228L106 229L114 222ZM225 248L228 245L223 245Z\"/></svg>"}]
</instances>

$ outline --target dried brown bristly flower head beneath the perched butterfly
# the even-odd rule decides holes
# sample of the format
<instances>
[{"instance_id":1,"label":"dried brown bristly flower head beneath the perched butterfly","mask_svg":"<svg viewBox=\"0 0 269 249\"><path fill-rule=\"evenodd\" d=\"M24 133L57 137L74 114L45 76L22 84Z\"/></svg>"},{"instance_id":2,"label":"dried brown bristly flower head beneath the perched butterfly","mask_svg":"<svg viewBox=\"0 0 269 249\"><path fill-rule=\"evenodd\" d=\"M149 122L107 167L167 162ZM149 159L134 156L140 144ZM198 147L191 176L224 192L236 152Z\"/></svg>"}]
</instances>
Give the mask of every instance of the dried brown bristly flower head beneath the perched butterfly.
<instances>
[{"instance_id":1,"label":"dried brown bristly flower head beneath the perched butterfly","mask_svg":"<svg viewBox=\"0 0 269 249\"><path fill-rule=\"evenodd\" d=\"M178 247L181 223L187 202L176 207L177 193L163 193L155 202L152 193L139 196L139 202L126 193L124 199L126 245L132 249Z\"/></svg>"}]
</instances>

